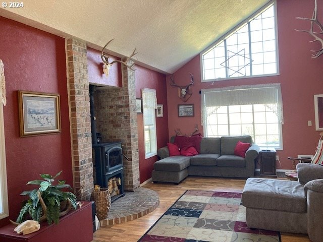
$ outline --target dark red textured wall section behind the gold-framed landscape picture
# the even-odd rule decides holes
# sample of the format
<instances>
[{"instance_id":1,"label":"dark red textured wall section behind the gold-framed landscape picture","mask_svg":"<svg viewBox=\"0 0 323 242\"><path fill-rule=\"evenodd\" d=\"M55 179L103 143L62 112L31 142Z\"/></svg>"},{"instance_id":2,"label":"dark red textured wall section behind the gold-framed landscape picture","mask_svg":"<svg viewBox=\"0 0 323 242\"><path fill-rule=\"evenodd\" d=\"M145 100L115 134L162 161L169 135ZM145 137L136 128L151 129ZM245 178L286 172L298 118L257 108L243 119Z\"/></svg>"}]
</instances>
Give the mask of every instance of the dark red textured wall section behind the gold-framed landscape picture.
<instances>
[{"instance_id":1,"label":"dark red textured wall section behind the gold-framed landscape picture","mask_svg":"<svg viewBox=\"0 0 323 242\"><path fill-rule=\"evenodd\" d=\"M0 17L0 58L5 65L7 105L4 107L10 219L16 220L27 181L40 173L56 174L73 185L65 40ZM18 90L59 93L62 134L19 136ZM8 219L0 220L0 226Z\"/></svg>"}]
</instances>

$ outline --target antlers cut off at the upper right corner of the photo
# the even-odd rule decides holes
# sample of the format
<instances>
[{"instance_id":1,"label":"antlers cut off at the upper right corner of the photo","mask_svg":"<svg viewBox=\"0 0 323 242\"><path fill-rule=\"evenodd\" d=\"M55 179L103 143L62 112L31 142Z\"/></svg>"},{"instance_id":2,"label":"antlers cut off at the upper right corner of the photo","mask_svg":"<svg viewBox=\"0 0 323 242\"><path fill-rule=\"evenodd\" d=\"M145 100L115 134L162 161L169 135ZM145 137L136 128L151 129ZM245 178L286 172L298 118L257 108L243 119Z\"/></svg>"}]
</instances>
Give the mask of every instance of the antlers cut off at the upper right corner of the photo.
<instances>
[{"instance_id":1,"label":"antlers cut off at the upper right corner of the photo","mask_svg":"<svg viewBox=\"0 0 323 242\"><path fill-rule=\"evenodd\" d=\"M317 20L317 0L315 0L313 16L312 16L311 19L310 18L301 18L301 17L296 17L296 19L303 19L303 20L311 21L311 28L310 28L310 30L301 30L301 29L295 29L295 30L296 31L305 32L305 33L309 33L312 37L314 37L314 39L311 40L311 41L309 41L309 42L315 42L315 41L320 42L321 48L318 49L318 50L311 50L312 52L316 52L315 54L312 54L311 57L312 58L316 58L316 57L320 56L323 53L323 39L321 39L317 35L318 34L323 34L323 26ZM319 32L314 32L314 30L313 30L314 24L316 25L316 27L318 27Z\"/></svg>"}]
</instances>

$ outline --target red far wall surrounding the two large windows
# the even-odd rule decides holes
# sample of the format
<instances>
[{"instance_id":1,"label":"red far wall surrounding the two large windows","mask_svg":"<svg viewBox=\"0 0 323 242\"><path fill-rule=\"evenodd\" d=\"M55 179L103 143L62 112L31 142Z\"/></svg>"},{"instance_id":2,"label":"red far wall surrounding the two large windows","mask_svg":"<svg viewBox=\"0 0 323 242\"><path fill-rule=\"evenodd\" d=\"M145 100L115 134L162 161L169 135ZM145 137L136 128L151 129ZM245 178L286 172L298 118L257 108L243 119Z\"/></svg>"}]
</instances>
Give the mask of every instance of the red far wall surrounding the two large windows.
<instances>
[{"instance_id":1,"label":"red far wall surrounding the two large windows","mask_svg":"<svg viewBox=\"0 0 323 242\"><path fill-rule=\"evenodd\" d=\"M319 4L322 4L321 1L319 1ZM319 9L323 8L322 5L318 7ZM184 102L178 98L177 88L168 84L169 136L175 135L174 129L176 128L180 128L182 133L189 134L193 131L194 124L198 124L199 131L203 133L200 126L200 89L281 83L284 105L284 150L277 152L281 161L281 164L277 164L277 168L291 169L291 162L287 159L289 156L314 154L319 139L319 131L315 131L313 95L323 93L323 57L311 58L310 50L320 49L321 46L318 43L309 43L309 40L312 40L309 34L294 30L309 30L310 23L308 21L297 20L295 17L311 17L313 8L314 1L311 1L311 3L302 0L277 1L279 76L219 81L214 82L214 85L211 85L212 82L201 83L199 55L179 69L174 74L174 79L178 85L189 83L189 72L194 75L193 95L186 103L194 104L195 116L177 116L177 104ZM318 17L322 23L323 16ZM169 77L167 77L167 81L169 81ZM307 120L312 120L311 127L307 126Z\"/></svg>"}]
</instances>

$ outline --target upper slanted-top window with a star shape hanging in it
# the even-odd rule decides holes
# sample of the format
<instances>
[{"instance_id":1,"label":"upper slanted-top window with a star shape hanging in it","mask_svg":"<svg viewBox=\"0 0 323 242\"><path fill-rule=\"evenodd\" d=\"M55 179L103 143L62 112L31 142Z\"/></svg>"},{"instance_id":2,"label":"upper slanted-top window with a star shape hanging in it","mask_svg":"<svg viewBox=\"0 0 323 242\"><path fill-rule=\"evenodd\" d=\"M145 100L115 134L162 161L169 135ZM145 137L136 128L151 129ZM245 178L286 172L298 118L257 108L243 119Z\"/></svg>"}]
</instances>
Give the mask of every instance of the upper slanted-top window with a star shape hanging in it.
<instances>
[{"instance_id":1,"label":"upper slanted-top window with a star shape hanging in it","mask_svg":"<svg viewBox=\"0 0 323 242\"><path fill-rule=\"evenodd\" d=\"M277 75L274 2L201 53L202 82Z\"/></svg>"}]
</instances>

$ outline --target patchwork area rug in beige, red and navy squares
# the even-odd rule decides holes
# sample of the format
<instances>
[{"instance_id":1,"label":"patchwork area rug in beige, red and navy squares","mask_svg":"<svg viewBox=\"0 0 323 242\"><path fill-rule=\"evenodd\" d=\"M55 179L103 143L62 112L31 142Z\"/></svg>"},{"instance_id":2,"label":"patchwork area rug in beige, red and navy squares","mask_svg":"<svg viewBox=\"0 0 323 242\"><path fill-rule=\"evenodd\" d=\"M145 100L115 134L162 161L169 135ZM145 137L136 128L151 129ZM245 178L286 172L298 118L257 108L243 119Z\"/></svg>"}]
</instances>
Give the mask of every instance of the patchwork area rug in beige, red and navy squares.
<instances>
[{"instance_id":1,"label":"patchwork area rug in beige, red and navy squares","mask_svg":"<svg viewBox=\"0 0 323 242\"><path fill-rule=\"evenodd\" d=\"M188 190L138 241L281 242L279 232L245 221L241 193Z\"/></svg>"}]
</instances>

